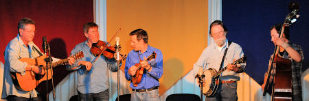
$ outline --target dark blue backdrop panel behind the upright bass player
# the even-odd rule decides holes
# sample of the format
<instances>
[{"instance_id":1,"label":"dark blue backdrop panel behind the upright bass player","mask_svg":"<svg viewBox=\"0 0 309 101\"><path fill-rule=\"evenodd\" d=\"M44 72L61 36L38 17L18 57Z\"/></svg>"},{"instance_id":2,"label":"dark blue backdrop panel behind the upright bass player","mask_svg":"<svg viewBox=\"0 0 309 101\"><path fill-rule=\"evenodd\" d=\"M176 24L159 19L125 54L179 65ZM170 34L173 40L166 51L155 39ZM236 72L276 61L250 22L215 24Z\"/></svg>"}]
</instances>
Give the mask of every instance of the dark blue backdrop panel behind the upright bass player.
<instances>
[{"instance_id":1,"label":"dark blue backdrop panel behind the upright bass player","mask_svg":"<svg viewBox=\"0 0 309 101\"><path fill-rule=\"evenodd\" d=\"M304 65L302 71L309 66L309 1L297 1L300 5L300 17L290 26L290 40L303 47ZM259 0L222 1L222 21L229 33L227 38L242 46L248 56L245 72L262 84L264 73L268 68L268 60L275 46L271 42L269 28L276 23L283 23L290 1Z\"/></svg>"}]
</instances>

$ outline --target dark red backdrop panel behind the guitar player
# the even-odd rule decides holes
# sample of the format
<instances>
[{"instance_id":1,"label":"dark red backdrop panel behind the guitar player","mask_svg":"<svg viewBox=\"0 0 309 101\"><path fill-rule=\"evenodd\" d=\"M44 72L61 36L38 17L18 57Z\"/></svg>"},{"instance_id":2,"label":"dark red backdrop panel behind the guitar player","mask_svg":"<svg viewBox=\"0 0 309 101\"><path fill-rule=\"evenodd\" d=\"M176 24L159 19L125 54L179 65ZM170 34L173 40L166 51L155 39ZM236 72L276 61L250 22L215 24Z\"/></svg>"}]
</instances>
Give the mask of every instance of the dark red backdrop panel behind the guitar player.
<instances>
[{"instance_id":1,"label":"dark red backdrop panel behind the guitar player","mask_svg":"<svg viewBox=\"0 0 309 101\"><path fill-rule=\"evenodd\" d=\"M0 1L0 60L4 63L5 46L16 37L17 23L28 17L36 23L34 43L42 51L46 36L52 56L65 58L73 46L86 40L82 25L93 22L93 1L89 0L1 0Z\"/></svg>"}]
</instances>

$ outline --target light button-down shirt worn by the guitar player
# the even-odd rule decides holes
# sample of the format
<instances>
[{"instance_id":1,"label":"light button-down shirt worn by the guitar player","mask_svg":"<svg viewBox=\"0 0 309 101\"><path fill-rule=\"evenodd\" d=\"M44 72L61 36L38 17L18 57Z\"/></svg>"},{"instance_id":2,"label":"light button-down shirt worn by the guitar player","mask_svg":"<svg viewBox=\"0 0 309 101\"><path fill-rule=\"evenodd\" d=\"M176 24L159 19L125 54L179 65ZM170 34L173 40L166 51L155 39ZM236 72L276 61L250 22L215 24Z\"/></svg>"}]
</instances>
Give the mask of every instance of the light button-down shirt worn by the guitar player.
<instances>
[{"instance_id":1,"label":"light button-down shirt worn by the guitar player","mask_svg":"<svg viewBox=\"0 0 309 101\"><path fill-rule=\"evenodd\" d=\"M30 98L36 97L36 90L32 91L20 91L16 89L15 85L13 85L12 78L10 76L10 72L20 72L22 75L25 74L25 67L27 67L26 62L19 61L20 58L34 58L38 57L38 52L32 51L32 47L38 48L33 42L29 42L28 46L26 46L21 40L19 34L16 38L10 41L8 46L5 48L5 63L4 63L4 77L3 77L3 91L2 98L5 98L10 95L15 95L19 97Z\"/></svg>"}]
</instances>

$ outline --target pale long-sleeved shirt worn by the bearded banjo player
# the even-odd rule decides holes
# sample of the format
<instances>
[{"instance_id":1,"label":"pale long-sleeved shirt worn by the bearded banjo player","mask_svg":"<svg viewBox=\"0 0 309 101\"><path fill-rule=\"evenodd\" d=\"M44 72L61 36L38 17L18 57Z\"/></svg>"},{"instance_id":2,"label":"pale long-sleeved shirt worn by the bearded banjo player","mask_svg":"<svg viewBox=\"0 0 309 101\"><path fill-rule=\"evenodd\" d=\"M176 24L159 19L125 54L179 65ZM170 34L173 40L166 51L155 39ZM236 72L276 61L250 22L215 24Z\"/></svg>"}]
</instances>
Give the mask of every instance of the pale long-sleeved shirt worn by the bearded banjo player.
<instances>
[{"instance_id":1,"label":"pale long-sleeved shirt worn by the bearded banjo player","mask_svg":"<svg viewBox=\"0 0 309 101\"><path fill-rule=\"evenodd\" d=\"M240 59L242 56L244 56L242 47L240 47L236 43L232 42L230 46L228 46L228 41L226 40L225 46L223 46L222 48L220 48L216 44L211 44L204 49L198 61L194 63L194 76L196 76L196 74L198 73L198 68L203 68L203 70L214 68L218 71L220 69L220 63L227 47L229 47L229 49L227 50L227 55L225 56L225 61L223 62L223 66L221 68L227 66L228 63L233 63L233 59ZM240 66L242 68L245 68L246 63L242 63L240 64ZM222 72L220 80L239 81L240 77L237 72L225 70L225 72Z\"/></svg>"}]
</instances>

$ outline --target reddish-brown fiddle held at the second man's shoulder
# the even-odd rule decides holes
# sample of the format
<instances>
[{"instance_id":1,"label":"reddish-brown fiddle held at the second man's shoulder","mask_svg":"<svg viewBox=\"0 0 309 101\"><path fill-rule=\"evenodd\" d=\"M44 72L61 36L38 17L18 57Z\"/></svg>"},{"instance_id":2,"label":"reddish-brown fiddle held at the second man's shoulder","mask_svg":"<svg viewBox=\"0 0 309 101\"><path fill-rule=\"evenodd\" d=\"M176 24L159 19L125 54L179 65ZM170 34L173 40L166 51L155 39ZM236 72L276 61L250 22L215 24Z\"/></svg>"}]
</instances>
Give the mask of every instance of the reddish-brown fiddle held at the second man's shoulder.
<instances>
[{"instance_id":1,"label":"reddish-brown fiddle held at the second man's shoulder","mask_svg":"<svg viewBox=\"0 0 309 101\"><path fill-rule=\"evenodd\" d=\"M116 53L115 46L107 46L106 42L99 40L97 43L93 43L90 52L97 57L98 55L104 55L108 59L112 59ZM120 47L119 47L120 48ZM126 55L119 54L123 59L126 59Z\"/></svg>"}]
</instances>

